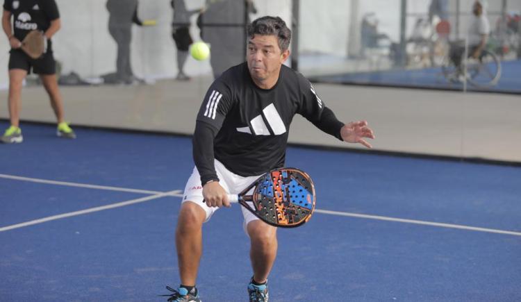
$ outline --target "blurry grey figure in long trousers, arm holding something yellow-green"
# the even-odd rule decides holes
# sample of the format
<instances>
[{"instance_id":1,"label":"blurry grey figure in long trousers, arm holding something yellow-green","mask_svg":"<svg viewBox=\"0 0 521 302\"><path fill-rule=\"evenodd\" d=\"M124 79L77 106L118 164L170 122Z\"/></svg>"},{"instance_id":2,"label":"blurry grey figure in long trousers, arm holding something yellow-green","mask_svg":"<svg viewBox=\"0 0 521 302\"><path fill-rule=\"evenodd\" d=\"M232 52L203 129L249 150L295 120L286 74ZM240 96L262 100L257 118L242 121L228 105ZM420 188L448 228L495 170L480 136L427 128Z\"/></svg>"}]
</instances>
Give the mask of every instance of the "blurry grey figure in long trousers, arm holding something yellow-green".
<instances>
[{"instance_id":1,"label":"blurry grey figure in long trousers, arm holding something yellow-green","mask_svg":"<svg viewBox=\"0 0 521 302\"><path fill-rule=\"evenodd\" d=\"M108 0L108 32L117 43L117 59L115 74L104 76L105 83L132 84L140 82L134 76L131 66L132 24L138 26L155 25L155 20L138 18L138 0Z\"/></svg>"}]
</instances>

